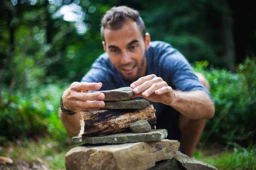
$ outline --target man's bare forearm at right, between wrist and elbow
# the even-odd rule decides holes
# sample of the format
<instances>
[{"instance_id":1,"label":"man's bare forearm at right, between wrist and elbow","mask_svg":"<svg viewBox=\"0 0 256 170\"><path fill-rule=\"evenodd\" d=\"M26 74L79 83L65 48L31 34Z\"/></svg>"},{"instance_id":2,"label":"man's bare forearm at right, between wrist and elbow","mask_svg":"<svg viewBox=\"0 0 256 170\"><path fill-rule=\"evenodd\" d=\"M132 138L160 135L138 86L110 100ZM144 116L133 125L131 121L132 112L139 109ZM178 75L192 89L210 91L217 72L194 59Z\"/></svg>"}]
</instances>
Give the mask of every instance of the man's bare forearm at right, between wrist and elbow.
<instances>
[{"instance_id":1,"label":"man's bare forearm at right, between wrist and elbow","mask_svg":"<svg viewBox=\"0 0 256 170\"><path fill-rule=\"evenodd\" d=\"M210 119L215 112L212 100L204 91L175 91L171 106L189 119Z\"/></svg>"}]
</instances>

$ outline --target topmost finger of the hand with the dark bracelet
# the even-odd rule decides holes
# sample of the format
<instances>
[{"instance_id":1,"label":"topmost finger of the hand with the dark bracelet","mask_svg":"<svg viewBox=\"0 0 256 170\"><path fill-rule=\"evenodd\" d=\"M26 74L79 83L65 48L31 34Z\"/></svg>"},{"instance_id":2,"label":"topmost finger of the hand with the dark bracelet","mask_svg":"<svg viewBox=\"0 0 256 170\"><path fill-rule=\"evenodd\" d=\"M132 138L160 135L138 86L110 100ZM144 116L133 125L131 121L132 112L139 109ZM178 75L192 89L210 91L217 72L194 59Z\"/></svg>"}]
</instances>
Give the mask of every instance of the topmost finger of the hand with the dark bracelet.
<instances>
[{"instance_id":1,"label":"topmost finger of the hand with the dark bracelet","mask_svg":"<svg viewBox=\"0 0 256 170\"><path fill-rule=\"evenodd\" d=\"M96 82L73 82L71 84L71 89L76 91L99 90L101 87L102 84Z\"/></svg>"}]
</instances>

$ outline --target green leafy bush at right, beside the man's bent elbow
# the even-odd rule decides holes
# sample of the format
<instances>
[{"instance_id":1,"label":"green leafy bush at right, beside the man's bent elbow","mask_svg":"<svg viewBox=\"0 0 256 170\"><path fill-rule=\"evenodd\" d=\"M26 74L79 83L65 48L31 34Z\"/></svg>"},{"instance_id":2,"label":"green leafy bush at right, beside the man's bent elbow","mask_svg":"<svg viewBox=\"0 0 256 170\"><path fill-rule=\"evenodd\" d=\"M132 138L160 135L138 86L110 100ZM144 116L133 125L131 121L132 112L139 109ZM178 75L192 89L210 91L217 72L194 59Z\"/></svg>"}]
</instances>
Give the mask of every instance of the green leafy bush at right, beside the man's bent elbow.
<instances>
[{"instance_id":1,"label":"green leafy bush at right, beside the man's bent elbow","mask_svg":"<svg viewBox=\"0 0 256 170\"><path fill-rule=\"evenodd\" d=\"M202 140L245 145L255 142L252 121L256 116L255 58L247 58L239 65L238 74L225 69L206 70L207 65L207 62L197 62L194 68L208 79L215 102L215 116L208 120Z\"/></svg>"}]
</instances>

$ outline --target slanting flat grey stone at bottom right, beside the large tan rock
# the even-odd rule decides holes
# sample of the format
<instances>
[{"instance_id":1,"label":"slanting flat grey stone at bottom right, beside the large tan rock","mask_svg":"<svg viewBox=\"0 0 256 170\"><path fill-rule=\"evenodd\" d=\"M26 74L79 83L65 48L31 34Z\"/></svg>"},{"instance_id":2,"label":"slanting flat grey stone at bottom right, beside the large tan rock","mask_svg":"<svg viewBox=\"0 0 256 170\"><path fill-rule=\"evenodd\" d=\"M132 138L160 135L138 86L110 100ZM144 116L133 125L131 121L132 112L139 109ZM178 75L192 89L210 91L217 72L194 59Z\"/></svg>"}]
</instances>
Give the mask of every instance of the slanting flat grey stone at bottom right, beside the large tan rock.
<instances>
[{"instance_id":1,"label":"slanting flat grey stone at bottom right, beside the large tan rock","mask_svg":"<svg viewBox=\"0 0 256 170\"><path fill-rule=\"evenodd\" d=\"M204 163L202 161L198 161L196 159L190 158L180 151L176 152L174 157L180 164L186 168L186 170L218 170L214 166Z\"/></svg>"}]
</instances>

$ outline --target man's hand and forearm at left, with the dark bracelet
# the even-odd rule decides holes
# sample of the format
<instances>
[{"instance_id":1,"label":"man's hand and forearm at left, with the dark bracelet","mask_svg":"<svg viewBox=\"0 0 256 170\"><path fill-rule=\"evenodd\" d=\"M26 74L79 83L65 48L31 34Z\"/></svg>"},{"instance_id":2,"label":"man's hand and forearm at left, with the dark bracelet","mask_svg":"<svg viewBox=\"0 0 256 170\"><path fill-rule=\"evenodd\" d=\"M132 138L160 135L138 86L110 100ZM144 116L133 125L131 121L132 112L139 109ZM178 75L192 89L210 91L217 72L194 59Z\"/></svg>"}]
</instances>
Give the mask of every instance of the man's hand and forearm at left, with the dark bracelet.
<instances>
[{"instance_id":1,"label":"man's hand and forearm at left, with the dark bracelet","mask_svg":"<svg viewBox=\"0 0 256 170\"><path fill-rule=\"evenodd\" d=\"M89 90L99 90L102 83L73 82L64 91L62 96L64 109L74 111L76 114L67 115L59 110L61 122L70 136L75 136L80 131L81 111L99 109L105 106L105 102L99 101L105 98L103 93L89 93Z\"/></svg>"}]
</instances>

